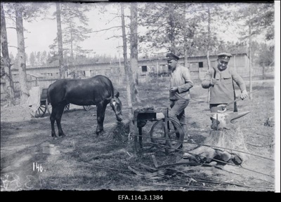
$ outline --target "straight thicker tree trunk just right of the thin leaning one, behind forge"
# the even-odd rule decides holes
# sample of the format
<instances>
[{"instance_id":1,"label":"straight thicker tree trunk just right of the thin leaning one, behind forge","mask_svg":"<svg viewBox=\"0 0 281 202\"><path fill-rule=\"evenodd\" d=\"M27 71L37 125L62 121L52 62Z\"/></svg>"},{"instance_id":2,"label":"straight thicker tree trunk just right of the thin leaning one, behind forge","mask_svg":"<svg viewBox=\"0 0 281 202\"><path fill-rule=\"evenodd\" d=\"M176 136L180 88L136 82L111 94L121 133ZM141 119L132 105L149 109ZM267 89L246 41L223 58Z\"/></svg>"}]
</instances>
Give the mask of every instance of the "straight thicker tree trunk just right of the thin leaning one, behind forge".
<instances>
[{"instance_id":1,"label":"straight thicker tree trunk just right of the thin leaning one, behind forge","mask_svg":"<svg viewBox=\"0 0 281 202\"><path fill-rule=\"evenodd\" d=\"M133 101L141 102L138 98L138 4L131 3L131 58L130 65L133 71Z\"/></svg>"}]
</instances>

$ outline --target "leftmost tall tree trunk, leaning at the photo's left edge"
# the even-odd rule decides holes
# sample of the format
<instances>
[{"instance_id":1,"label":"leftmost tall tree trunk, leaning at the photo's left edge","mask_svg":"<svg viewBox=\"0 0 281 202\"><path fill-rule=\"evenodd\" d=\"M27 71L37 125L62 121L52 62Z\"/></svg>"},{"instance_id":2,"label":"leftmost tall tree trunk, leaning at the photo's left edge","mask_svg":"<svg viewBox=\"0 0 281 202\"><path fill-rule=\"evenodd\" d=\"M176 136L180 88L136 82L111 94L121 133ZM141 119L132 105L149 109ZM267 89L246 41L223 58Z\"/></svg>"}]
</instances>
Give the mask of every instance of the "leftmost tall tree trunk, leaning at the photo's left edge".
<instances>
[{"instance_id":1,"label":"leftmost tall tree trunk, leaning at the photo's left edge","mask_svg":"<svg viewBox=\"0 0 281 202\"><path fill-rule=\"evenodd\" d=\"M11 60L8 54L8 39L6 31L6 19L3 4L1 4L1 50L4 63L4 72L5 72L5 84L7 93L7 105L15 105L14 101L14 91L13 91L13 79L11 74Z\"/></svg>"}]
</instances>

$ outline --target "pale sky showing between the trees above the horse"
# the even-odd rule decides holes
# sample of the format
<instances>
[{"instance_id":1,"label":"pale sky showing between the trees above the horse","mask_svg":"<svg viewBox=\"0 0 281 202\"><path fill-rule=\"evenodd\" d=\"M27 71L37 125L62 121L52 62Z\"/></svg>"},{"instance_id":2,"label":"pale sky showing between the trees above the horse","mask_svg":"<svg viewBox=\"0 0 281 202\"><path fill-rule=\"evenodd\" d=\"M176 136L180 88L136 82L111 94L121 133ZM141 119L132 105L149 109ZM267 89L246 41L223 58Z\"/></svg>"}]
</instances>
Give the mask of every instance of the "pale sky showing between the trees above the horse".
<instances>
[{"instance_id":1,"label":"pale sky showing between the trees above the horse","mask_svg":"<svg viewBox=\"0 0 281 202\"><path fill-rule=\"evenodd\" d=\"M116 13L116 9L113 6L110 6L108 4L107 6L109 8L110 13ZM51 17L52 13L55 12L55 4L51 6L50 8L50 14L48 16ZM115 19L113 21L108 22L109 20L113 19L113 15L107 14L107 18L105 18L105 15L99 14L96 12L89 12L89 27L93 31L97 31L100 29L107 29L109 27L119 26L121 25L121 22L118 22L118 19ZM10 23L10 26L12 25L10 21L7 20L7 24ZM33 20L32 22L27 22L24 20L24 27L26 29L25 31L25 52L30 55L31 52L43 52L44 50L49 51L49 46L53 43L53 39L56 37L57 33L57 24L56 19L50 20L45 18L44 20L38 19L37 21ZM9 27L7 25L7 27ZM107 32L95 32L91 33L89 36L91 36L89 39L86 39L83 41L80 45L89 50L93 50L93 53L96 53L98 55L112 55L114 57L115 55L118 57L118 46L122 45L121 38L116 39L107 39L112 36L112 34L115 35L121 35L121 29L119 31L117 29L110 29ZM15 29L7 29L8 34L8 45L9 46L17 46L17 36ZM9 48L9 52L13 53L15 56L17 53L16 48ZM122 54L122 53L121 53Z\"/></svg>"}]
</instances>

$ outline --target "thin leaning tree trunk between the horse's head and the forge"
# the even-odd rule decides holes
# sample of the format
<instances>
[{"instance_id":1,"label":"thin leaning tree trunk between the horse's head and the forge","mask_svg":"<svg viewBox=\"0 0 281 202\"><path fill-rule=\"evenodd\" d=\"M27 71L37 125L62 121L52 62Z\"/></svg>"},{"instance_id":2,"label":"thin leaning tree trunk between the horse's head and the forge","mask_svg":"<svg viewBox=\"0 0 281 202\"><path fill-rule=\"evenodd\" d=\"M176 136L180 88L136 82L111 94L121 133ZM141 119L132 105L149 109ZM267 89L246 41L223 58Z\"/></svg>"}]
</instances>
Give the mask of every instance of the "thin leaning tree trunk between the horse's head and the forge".
<instances>
[{"instance_id":1,"label":"thin leaning tree trunk between the horse's head and the forge","mask_svg":"<svg viewBox=\"0 0 281 202\"><path fill-rule=\"evenodd\" d=\"M121 5L121 20L122 20L122 39L123 39L123 57L124 57L124 67L126 74L126 93L127 102L129 109L129 128L130 133L133 132L133 105L132 105L132 89L133 89L133 73L127 58L127 42L126 42L126 32L125 32L125 17L124 17L124 4Z\"/></svg>"}]
</instances>

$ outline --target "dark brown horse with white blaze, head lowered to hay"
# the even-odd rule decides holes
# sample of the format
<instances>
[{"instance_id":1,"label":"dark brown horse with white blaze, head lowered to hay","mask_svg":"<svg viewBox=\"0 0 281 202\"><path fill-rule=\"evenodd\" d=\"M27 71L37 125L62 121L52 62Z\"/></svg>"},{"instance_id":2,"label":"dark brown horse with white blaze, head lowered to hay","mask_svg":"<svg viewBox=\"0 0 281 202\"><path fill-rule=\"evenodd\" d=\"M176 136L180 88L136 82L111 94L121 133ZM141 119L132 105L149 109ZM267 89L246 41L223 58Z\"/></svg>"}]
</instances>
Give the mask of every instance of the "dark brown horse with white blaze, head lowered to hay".
<instances>
[{"instance_id":1,"label":"dark brown horse with white blaze, head lowered to hay","mask_svg":"<svg viewBox=\"0 0 281 202\"><path fill-rule=\"evenodd\" d=\"M114 92L112 81L106 76L98 75L90 79L60 79L48 87L48 102L51 102L52 113L50 116L52 137L55 135L55 121L58 126L58 135L65 136L60 125L65 105L96 105L97 121L96 134L103 132L105 108L110 103L115 112L117 121L122 121L122 102L119 92Z\"/></svg>"}]
</instances>

